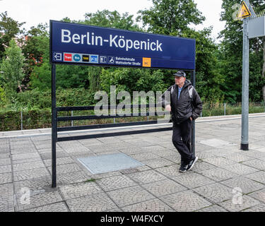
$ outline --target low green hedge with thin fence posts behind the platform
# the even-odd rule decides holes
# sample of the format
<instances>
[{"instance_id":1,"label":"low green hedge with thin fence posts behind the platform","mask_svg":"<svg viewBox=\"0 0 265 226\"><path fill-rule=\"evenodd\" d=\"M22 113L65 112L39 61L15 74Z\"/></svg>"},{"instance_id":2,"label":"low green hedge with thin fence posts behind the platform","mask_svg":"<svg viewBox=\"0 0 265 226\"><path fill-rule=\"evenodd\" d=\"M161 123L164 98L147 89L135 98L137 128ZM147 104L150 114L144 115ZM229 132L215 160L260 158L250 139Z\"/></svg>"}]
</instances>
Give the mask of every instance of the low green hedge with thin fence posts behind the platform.
<instances>
[{"instance_id":1,"label":"low green hedge with thin fence posts behind the platform","mask_svg":"<svg viewBox=\"0 0 265 226\"><path fill-rule=\"evenodd\" d=\"M211 117L211 116L222 116L222 115L232 115L241 114L242 106L241 103L231 104L231 103L204 103L203 112L201 112L200 117ZM265 112L264 102L250 102L249 103L249 113L263 113ZM87 114L87 112L84 112ZM65 112L61 116L78 116L82 115L81 112ZM149 121L154 118L143 117L142 120ZM109 119L102 121L93 121L94 124L104 124L104 123L116 123L124 121L125 119ZM141 118L139 119L141 120ZM11 131L11 130L25 130L25 129L40 129L40 128L50 128L52 126L51 112L50 109L43 110L26 110L20 109L18 111L11 112L0 112L1 127L0 131ZM91 122L90 122L91 123ZM88 121L69 121L61 122L60 126L81 126L88 124Z\"/></svg>"}]
</instances>

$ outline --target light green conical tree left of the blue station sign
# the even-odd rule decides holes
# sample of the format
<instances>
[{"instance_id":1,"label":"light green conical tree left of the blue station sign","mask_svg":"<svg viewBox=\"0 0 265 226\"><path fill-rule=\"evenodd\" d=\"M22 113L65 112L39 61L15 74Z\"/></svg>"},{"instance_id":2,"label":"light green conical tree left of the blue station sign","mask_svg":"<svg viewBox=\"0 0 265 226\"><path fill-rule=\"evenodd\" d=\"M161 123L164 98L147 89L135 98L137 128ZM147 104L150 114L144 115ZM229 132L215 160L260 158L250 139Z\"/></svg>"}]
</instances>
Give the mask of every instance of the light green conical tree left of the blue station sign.
<instances>
[{"instance_id":1,"label":"light green conical tree left of the blue station sign","mask_svg":"<svg viewBox=\"0 0 265 226\"><path fill-rule=\"evenodd\" d=\"M6 48L6 58L3 59L0 66L1 82L6 90L6 95L9 100L15 96L20 87L21 80L24 77L23 64L25 57L17 46L15 40L11 40L10 47Z\"/></svg>"}]
</instances>

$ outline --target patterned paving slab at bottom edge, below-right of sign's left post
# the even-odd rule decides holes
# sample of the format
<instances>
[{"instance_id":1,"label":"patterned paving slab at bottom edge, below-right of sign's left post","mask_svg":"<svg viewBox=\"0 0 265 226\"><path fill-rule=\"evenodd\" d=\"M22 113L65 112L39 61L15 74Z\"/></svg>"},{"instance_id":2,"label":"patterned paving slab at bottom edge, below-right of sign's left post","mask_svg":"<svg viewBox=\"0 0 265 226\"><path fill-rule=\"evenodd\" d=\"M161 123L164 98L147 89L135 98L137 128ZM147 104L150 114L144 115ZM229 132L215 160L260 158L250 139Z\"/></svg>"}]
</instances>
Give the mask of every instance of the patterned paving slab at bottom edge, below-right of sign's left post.
<instances>
[{"instance_id":1,"label":"patterned paving slab at bottom edge, below-right of sign's left post","mask_svg":"<svg viewBox=\"0 0 265 226\"><path fill-rule=\"evenodd\" d=\"M105 193L93 194L66 201L72 212L103 212L117 208L117 205Z\"/></svg>"}]
</instances>

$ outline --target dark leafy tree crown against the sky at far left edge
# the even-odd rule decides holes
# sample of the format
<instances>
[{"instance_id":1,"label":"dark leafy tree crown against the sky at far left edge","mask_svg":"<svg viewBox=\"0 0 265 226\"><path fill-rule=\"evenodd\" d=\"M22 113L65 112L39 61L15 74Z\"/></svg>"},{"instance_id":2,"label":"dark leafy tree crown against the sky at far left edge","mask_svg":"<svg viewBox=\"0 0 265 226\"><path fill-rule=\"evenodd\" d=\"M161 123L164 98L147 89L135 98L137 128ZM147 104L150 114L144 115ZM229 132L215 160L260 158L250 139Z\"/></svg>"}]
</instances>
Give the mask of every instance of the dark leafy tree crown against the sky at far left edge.
<instances>
[{"instance_id":1,"label":"dark leafy tree crown against the sky at far left edge","mask_svg":"<svg viewBox=\"0 0 265 226\"><path fill-rule=\"evenodd\" d=\"M9 46L12 38L23 33L21 26L25 23L18 23L8 17L7 12L0 13L0 61L5 57L5 48Z\"/></svg>"}]
</instances>

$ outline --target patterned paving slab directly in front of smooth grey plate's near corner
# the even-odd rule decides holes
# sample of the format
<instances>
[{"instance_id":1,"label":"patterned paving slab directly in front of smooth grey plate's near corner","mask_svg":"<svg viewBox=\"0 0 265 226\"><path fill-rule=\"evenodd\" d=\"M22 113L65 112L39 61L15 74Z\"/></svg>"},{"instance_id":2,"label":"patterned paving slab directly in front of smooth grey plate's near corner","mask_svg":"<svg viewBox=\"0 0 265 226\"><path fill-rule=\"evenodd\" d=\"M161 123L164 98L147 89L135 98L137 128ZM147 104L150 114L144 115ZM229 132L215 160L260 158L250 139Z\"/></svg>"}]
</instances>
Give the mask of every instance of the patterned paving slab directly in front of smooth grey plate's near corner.
<instances>
[{"instance_id":1,"label":"patterned paving slab directly in front of smooth grey plate's near corner","mask_svg":"<svg viewBox=\"0 0 265 226\"><path fill-rule=\"evenodd\" d=\"M116 189L126 188L128 186L136 186L137 184L126 175L107 177L97 180L97 184L104 191L112 191Z\"/></svg>"}]
</instances>

